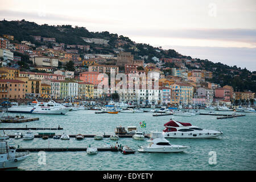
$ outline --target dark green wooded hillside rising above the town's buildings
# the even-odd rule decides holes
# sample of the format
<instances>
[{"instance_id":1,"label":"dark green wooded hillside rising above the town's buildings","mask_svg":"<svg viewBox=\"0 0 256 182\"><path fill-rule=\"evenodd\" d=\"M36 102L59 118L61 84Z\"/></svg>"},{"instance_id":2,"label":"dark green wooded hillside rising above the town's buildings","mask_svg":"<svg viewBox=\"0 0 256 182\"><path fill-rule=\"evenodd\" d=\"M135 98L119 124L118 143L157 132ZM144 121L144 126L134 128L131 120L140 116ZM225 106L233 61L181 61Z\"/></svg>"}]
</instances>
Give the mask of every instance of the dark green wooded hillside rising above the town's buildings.
<instances>
[{"instance_id":1,"label":"dark green wooded hillside rising above the town's buildings","mask_svg":"<svg viewBox=\"0 0 256 182\"><path fill-rule=\"evenodd\" d=\"M250 72L246 68L241 69L236 66L230 67L222 63L213 63L209 60L201 60L192 58L190 56L183 56L177 53L174 49L164 50L158 47L152 47L148 44L135 43L129 38L118 34L111 34L108 31L104 32L90 32L85 27L72 27L71 25L61 26L49 26L48 24L39 25L34 22L28 22L26 20L21 21L6 21L0 22L0 36L3 34L9 34L14 36L13 43L19 43L23 40L30 41L36 46L51 47L51 43L39 43L35 42L34 36L42 36L46 38L56 38L56 42L65 44L76 45L89 45L92 49L90 53L104 53L104 54L117 54L113 51L115 48L123 48L127 52L131 52L135 59L139 59L139 56L148 56L148 59L144 59L145 63L154 61L152 57L160 58L178 58L181 59L184 65L188 69L205 69L213 72L212 81L221 86L230 85L233 86L235 91L251 90L256 92L256 72ZM81 37L85 38L101 38L109 40L107 46L100 46L96 44L86 43ZM100 49L97 49L100 48ZM191 63L196 63L199 68L192 67L186 64L185 60L191 60ZM221 60L220 60L221 61ZM170 64L166 64L166 67Z\"/></svg>"}]
</instances>

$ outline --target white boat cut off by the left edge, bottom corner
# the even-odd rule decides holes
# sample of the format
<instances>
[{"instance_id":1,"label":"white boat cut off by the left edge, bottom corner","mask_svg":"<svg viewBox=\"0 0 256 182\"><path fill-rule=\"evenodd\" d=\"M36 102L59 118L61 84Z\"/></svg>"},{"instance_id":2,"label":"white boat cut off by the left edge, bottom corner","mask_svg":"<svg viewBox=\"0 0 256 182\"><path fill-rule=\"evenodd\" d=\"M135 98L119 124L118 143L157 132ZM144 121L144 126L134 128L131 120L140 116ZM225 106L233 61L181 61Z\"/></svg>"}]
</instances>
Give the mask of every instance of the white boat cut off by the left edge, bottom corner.
<instances>
[{"instance_id":1,"label":"white boat cut off by the left edge, bottom corner","mask_svg":"<svg viewBox=\"0 0 256 182\"><path fill-rule=\"evenodd\" d=\"M28 156L29 152L16 152L15 144L0 140L0 169L18 168Z\"/></svg>"}]
</instances>

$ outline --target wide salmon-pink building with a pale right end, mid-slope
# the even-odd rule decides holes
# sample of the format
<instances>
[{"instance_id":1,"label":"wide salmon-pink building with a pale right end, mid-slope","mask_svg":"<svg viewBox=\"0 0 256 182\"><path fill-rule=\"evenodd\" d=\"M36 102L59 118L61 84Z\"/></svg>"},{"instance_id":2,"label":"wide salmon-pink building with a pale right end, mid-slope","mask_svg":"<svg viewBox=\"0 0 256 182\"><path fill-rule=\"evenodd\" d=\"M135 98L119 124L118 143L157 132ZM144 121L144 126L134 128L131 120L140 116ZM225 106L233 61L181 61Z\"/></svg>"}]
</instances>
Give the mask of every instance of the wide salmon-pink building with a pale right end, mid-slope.
<instances>
[{"instance_id":1,"label":"wide salmon-pink building with a pale right end, mid-slope","mask_svg":"<svg viewBox=\"0 0 256 182\"><path fill-rule=\"evenodd\" d=\"M98 85L100 82L104 81L104 84L108 85L108 78L104 78L103 73L98 72L82 72L80 73L80 80L94 85Z\"/></svg>"}]
</instances>

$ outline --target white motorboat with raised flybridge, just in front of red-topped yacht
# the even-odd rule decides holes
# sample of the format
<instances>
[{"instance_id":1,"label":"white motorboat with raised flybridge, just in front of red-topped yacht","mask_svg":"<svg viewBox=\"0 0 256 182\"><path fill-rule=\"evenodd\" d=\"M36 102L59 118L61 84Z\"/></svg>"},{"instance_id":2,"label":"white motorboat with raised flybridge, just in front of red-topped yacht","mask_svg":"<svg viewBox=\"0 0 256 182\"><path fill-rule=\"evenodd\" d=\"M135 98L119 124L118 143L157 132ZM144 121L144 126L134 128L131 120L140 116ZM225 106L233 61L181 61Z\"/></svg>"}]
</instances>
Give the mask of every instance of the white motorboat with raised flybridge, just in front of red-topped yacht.
<instances>
[{"instance_id":1,"label":"white motorboat with raised flybridge, just in front of red-topped yacht","mask_svg":"<svg viewBox=\"0 0 256 182\"><path fill-rule=\"evenodd\" d=\"M148 146L140 146L139 152L184 152L188 146L171 144L164 138L162 132L151 132L150 144Z\"/></svg>"}]
</instances>

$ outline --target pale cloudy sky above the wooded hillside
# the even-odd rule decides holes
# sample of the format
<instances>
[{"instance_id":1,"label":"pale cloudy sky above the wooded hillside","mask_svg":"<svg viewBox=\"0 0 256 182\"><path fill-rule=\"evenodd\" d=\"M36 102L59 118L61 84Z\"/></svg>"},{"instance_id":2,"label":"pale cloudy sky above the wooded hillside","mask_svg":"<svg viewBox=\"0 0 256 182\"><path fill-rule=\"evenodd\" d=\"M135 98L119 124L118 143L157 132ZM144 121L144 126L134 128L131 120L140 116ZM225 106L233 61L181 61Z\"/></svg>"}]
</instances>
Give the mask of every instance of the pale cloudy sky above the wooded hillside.
<instances>
[{"instance_id":1,"label":"pale cloudy sky above the wooded hillside","mask_svg":"<svg viewBox=\"0 0 256 182\"><path fill-rule=\"evenodd\" d=\"M109 31L193 58L256 71L255 0L0 0L0 20Z\"/></svg>"}]
</instances>

